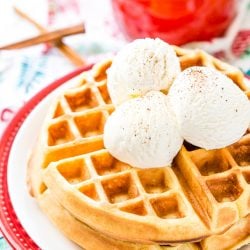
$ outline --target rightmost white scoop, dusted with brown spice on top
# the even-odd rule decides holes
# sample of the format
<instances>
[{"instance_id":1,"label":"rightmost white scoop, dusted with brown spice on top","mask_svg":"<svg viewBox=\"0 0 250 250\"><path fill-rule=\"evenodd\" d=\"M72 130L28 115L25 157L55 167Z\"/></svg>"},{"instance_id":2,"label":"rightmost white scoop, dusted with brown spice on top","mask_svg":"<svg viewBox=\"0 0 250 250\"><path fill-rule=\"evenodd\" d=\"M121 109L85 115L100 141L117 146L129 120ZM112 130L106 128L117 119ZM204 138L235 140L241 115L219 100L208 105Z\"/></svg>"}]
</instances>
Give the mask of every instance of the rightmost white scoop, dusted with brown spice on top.
<instances>
[{"instance_id":1,"label":"rightmost white scoop, dusted with brown spice on top","mask_svg":"<svg viewBox=\"0 0 250 250\"><path fill-rule=\"evenodd\" d=\"M168 100L184 139L205 149L238 141L250 123L250 102L231 79L208 67L190 67L175 79Z\"/></svg>"}]
</instances>

